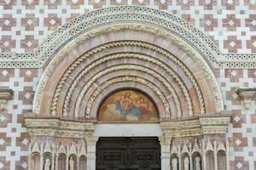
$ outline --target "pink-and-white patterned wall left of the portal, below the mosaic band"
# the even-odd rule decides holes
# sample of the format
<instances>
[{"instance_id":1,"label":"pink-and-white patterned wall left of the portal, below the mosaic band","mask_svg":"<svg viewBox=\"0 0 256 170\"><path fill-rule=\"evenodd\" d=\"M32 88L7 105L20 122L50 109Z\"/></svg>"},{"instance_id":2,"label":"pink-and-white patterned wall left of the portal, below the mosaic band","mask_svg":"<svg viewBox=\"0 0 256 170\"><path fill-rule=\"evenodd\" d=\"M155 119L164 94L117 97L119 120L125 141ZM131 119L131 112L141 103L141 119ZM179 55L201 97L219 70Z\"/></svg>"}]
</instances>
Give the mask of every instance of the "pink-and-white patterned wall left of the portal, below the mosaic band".
<instances>
[{"instance_id":1,"label":"pink-and-white patterned wall left of the portal, below the mosaic band","mask_svg":"<svg viewBox=\"0 0 256 170\"><path fill-rule=\"evenodd\" d=\"M32 111L32 99L37 88L38 69L0 69L1 88L11 88L14 99L0 112L0 169L17 170L27 167L26 127L23 113Z\"/></svg>"}]
</instances>

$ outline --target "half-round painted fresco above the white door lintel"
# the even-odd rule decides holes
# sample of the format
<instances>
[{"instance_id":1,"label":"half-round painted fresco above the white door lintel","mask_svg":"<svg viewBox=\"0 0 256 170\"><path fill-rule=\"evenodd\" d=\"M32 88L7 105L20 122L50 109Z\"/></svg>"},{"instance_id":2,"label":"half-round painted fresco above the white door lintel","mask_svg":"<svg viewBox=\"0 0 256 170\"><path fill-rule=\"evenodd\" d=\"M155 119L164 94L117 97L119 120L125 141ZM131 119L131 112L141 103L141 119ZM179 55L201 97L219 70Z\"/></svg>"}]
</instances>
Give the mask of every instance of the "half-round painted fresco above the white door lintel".
<instances>
[{"instance_id":1,"label":"half-round painted fresco above the white door lintel","mask_svg":"<svg viewBox=\"0 0 256 170\"><path fill-rule=\"evenodd\" d=\"M98 115L99 121L157 121L157 111L147 96L135 90L121 90L106 99Z\"/></svg>"}]
</instances>

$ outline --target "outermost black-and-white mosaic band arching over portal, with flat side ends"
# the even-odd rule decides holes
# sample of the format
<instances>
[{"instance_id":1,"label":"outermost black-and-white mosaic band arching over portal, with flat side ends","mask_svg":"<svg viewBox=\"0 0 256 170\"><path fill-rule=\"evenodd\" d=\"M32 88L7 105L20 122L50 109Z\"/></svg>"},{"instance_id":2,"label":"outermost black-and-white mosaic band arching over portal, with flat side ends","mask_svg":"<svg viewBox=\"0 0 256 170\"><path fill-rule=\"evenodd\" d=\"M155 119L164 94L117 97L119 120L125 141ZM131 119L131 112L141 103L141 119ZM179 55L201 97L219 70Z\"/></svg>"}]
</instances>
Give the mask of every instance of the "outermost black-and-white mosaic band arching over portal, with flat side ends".
<instances>
[{"instance_id":1,"label":"outermost black-and-white mosaic band arching over portal, with flat side ends","mask_svg":"<svg viewBox=\"0 0 256 170\"><path fill-rule=\"evenodd\" d=\"M148 7L119 6L101 8L70 20L49 35L33 54L0 54L0 68L41 68L51 54L81 32L129 21L169 30L204 54L215 67L256 67L256 54L221 54L203 32L173 14Z\"/></svg>"}]
</instances>

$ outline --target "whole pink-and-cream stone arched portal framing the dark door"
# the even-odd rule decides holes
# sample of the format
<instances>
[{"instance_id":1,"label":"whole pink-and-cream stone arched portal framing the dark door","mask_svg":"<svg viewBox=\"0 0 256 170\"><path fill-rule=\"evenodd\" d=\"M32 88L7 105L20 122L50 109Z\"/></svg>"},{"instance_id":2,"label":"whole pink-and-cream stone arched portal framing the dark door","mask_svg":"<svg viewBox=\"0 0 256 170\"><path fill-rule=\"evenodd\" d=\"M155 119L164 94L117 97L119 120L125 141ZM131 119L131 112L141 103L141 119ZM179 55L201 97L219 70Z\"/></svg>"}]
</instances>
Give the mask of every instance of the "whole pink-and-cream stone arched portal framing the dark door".
<instances>
[{"instance_id":1,"label":"whole pink-and-cream stone arched portal framing the dark door","mask_svg":"<svg viewBox=\"0 0 256 170\"><path fill-rule=\"evenodd\" d=\"M87 169L95 169L102 136L158 137L162 169L171 168L172 152L177 162L185 153L193 167L185 143L205 163L205 149L192 140L225 143L230 117L213 72L218 50L175 18L144 7L103 8L68 22L38 48L44 73L26 126L35 142L52 141L55 166L62 154L66 168L79 168L86 156Z\"/></svg>"}]
</instances>

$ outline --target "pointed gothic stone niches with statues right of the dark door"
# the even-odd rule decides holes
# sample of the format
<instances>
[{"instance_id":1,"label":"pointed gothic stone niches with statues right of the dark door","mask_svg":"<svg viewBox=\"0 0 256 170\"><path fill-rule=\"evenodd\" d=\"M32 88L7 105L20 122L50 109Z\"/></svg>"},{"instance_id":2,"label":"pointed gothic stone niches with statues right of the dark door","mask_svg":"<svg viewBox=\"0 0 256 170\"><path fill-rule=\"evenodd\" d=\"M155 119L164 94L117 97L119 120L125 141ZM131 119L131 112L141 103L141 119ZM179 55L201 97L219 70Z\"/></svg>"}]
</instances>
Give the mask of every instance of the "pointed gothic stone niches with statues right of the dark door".
<instances>
[{"instance_id":1,"label":"pointed gothic stone niches with statues right of the dark door","mask_svg":"<svg viewBox=\"0 0 256 170\"><path fill-rule=\"evenodd\" d=\"M191 167L187 167L187 169L209 169L210 166L213 166L212 164L209 165L209 163L207 163L209 161L214 163L214 167L218 167L218 164L220 164L223 166L224 169L230 169L228 148L229 144L227 141L223 143L218 139L213 141L206 141L205 139L195 139L195 142L183 141L178 144L172 143L170 156L172 169L175 169L173 167L178 167L176 169L183 169L183 165L181 164L185 163L185 157L189 158L189 162L187 161L187 166ZM207 154L209 153L212 154L211 157L207 156ZM218 154L224 157L224 161L218 161Z\"/></svg>"}]
</instances>

